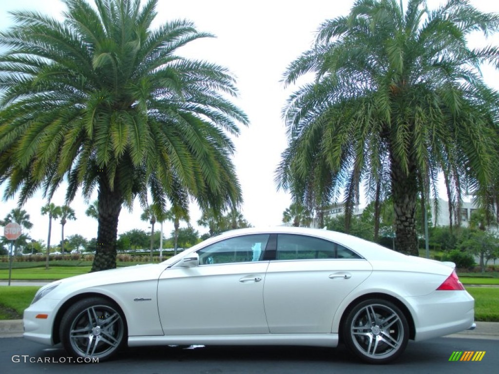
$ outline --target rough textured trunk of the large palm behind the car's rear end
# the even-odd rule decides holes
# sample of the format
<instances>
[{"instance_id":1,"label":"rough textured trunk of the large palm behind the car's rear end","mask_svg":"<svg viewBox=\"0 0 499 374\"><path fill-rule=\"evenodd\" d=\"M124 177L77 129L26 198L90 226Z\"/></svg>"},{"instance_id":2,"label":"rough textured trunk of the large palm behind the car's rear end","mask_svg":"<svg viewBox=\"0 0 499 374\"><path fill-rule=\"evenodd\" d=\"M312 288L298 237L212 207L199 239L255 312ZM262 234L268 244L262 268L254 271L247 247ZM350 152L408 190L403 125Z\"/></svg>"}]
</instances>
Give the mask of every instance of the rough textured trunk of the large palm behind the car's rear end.
<instances>
[{"instance_id":1,"label":"rough textured trunk of the large palm behind the car's rear end","mask_svg":"<svg viewBox=\"0 0 499 374\"><path fill-rule=\"evenodd\" d=\"M415 163L413 160L409 160L409 174L407 174L393 157L391 162L392 198L395 210L395 249L398 252L418 256L415 219L418 179Z\"/></svg>"}]
</instances>

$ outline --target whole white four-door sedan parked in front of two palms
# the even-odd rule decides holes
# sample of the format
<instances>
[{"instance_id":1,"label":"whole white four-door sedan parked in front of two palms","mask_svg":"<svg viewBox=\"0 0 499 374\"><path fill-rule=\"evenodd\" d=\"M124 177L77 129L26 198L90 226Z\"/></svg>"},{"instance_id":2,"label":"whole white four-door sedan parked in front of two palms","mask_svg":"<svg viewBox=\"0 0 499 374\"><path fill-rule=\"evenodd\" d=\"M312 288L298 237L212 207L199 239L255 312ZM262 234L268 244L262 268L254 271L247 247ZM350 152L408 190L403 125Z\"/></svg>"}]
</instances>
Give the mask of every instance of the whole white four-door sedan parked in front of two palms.
<instances>
[{"instance_id":1,"label":"whole white four-door sedan parked in front of two palms","mask_svg":"<svg viewBox=\"0 0 499 374\"><path fill-rule=\"evenodd\" d=\"M107 359L158 345L344 343L368 363L474 327L474 300L453 263L407 256L338 232L249 228L158 264L42 287L24 337Z\"/></svg>"}]
</instances>

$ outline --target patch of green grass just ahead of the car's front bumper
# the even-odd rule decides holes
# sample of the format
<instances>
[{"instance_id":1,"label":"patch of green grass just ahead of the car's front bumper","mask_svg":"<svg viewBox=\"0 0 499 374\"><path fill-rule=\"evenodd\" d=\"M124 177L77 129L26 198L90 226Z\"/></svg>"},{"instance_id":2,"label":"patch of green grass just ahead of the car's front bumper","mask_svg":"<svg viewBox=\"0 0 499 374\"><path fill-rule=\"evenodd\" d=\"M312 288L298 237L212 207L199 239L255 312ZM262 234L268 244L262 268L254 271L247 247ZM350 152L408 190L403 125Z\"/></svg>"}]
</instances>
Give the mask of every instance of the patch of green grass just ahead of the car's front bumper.
<instances>
[{"instance_id":1,"label":"patch of green grass just ahead of the car's front bumper","mask_svg":"<svg viewBox=\"0 0 499 374\"><path fill-rule=\"evenodd\" d=\"M34 286L0 287L0 320L22 318L22 312L31 304L39 288Z\"/></svg>"}]
</instances>

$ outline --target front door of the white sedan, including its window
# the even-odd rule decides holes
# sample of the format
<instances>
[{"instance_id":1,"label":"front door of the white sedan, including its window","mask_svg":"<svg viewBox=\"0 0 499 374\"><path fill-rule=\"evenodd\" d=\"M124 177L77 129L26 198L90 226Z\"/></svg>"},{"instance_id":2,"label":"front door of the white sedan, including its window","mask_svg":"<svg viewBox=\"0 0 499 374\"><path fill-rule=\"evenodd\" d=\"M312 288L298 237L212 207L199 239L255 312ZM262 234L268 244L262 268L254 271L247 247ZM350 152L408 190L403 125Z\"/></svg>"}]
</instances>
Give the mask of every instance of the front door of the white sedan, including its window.
<instances>
[{"instance_id":1,"label":"front door of the white sedan, including its window","mask_svg":"<svg viewBox=\"0 0 499 374\"><path fill-rule=\"evenodd\" d=\"M232 237L196 253L199 265L166 269L158 283L165 335L268 334L261 260L269 234Z\"/></svg>"}]
</instances>

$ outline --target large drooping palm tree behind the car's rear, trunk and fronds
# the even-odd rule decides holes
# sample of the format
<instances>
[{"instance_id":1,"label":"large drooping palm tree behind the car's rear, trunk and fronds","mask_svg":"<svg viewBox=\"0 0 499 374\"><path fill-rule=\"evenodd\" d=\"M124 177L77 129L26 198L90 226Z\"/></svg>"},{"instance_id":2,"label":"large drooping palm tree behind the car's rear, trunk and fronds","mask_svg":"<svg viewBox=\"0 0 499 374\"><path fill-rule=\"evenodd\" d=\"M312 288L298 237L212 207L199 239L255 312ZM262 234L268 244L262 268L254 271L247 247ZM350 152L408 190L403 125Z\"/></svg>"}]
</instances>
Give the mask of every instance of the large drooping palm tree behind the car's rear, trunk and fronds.
<instances>
[{"instance_id":1,"label":"large drooping palm tree behind the car's rear, trunk and fronds","mask_svg":"<svg viewBox=\"0 0 499 374\"><path fill-rule=\"evenodd\" d=\"M409 0L407 9L402 1L358 0L350 15L322 23L313 48L284 74L286 85L307 72L315 79L284 109L289 144L278 188L311 206L343 193L348 216L361 183L377 201L386 190L397 250L417 255L417 197L436 201L439 173L450 211L465 191L494 184L499 95L479 69L497 66L499 50L470 49L467 36L498 28L497 14L467 0L433 11L424 0Z\"/></svg>"}]
</instances>

